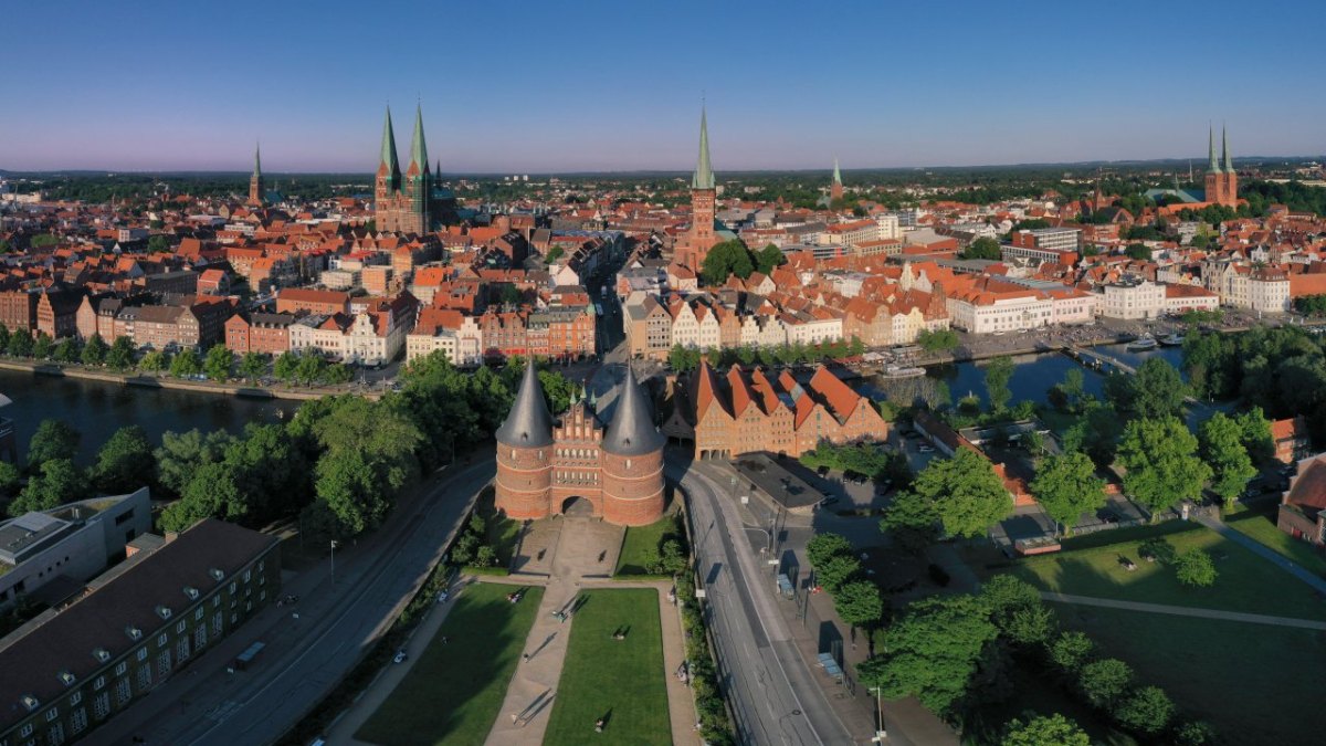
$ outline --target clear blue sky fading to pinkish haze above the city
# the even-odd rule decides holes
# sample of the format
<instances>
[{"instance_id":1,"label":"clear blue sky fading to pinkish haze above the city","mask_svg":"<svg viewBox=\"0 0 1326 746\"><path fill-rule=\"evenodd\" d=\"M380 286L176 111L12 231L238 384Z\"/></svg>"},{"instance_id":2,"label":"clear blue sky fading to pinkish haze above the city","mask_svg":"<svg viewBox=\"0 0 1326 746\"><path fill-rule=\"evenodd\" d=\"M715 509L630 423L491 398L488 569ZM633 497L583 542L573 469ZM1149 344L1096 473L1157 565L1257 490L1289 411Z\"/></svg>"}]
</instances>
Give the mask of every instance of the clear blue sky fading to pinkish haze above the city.
<instances>
[{"instance_id":1,"label":"clear blue sky fading to pinkish haze above the city","mask_svg":"<svg viewBox=\"0 0 1326 746\"><path fill-rule=\"evenodd\" d=\"M7 3L0 169L446 173L1326 153L1326 3Z\"/></svg>"}]
</instances>

